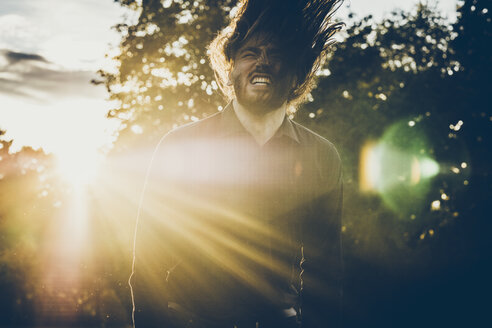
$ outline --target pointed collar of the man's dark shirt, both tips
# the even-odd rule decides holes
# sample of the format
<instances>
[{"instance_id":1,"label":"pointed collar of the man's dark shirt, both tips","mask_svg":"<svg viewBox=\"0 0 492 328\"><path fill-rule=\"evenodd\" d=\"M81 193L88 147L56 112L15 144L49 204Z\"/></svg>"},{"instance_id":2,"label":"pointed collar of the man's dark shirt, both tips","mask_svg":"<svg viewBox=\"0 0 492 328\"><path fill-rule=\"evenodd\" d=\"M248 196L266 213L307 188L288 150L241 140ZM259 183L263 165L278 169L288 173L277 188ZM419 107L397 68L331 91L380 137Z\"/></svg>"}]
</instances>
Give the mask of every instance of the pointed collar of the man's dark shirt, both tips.
<instances>
[{"instance_id":1,"label":"pointed collar of the man's dark shirt, both tips","mask_svg":"<svg viewBox=\"0 0 492 328\"><path fill-rule=\"evenodd\" d=\"M238 134L249 135L249 132L237 118L234 108L232 107L232 102L227 104L227 106L222 110L219 134L224 137ZM282 125L280 125L277 132L275 132L273 138L280 138L282 136L287 136L297 143L300 143L294 125L287 115L285 115Z\"/></svg>"}]
</instances>

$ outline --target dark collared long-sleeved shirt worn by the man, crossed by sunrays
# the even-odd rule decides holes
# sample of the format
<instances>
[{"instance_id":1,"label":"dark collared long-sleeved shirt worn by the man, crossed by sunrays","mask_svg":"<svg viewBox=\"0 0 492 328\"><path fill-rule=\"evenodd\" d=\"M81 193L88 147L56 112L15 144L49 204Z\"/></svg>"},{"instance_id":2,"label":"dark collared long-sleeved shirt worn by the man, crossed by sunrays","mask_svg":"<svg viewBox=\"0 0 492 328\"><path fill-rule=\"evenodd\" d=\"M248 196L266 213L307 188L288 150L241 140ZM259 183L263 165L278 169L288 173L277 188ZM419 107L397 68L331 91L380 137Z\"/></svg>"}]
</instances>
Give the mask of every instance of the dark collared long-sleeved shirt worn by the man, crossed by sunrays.
<instances>
[{"instance_id":1,"label":"dark collared long-sleeved shirt worn by the man, crossed by sunrays","mask_svg":"<svg viewBox=\"0 0 492 328\"><path fill-rule=\"evenodd\" d=\"M341 207L335 147L288 117L263 146L232 105L171 131L138 226L137 327L165 324L170 302L231 326L292 307L305 327L336 326Z\"/></svg>"}]
</instances>

